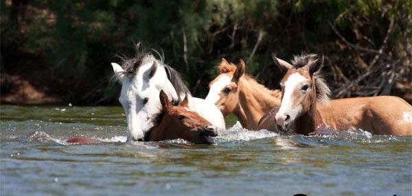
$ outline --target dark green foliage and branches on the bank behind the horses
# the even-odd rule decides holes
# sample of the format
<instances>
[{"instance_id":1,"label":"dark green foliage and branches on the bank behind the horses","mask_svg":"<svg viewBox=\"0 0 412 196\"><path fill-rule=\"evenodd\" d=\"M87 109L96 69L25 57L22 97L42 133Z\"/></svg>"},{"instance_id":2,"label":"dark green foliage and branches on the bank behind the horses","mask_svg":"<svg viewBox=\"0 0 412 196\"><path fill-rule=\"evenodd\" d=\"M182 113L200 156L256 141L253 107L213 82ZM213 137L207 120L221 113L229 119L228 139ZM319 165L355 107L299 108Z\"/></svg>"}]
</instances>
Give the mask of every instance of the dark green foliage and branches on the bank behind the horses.
<instances>
[{"instance_id":1,"label":"dark green foliage and branches on the bank behind the horses","mask_svg":"<svg viewBox=\"0 0 412 196\"><path fill-rule=\"evenodd\" d=\"M64 96L73 102L115 102L119 87L109 83L110 62L118 62L118 54L133 55L139 41L162 50L200 97L222 57L247 60L248 73L272 88L282 76L273 52L285 59L301 51L325 54L327 64L343 69L327 69L334 87L356 78L375 54L348 47L330 25L348 42L377 50L394 20L385 53L402 62L411 58L411 1L56 0L23 7L1 1L1 66L25 60L9 58L10 47L23 57L32 51L49 65L49 79L67 80L70 93Z\"/></svg>"}]
</instances>

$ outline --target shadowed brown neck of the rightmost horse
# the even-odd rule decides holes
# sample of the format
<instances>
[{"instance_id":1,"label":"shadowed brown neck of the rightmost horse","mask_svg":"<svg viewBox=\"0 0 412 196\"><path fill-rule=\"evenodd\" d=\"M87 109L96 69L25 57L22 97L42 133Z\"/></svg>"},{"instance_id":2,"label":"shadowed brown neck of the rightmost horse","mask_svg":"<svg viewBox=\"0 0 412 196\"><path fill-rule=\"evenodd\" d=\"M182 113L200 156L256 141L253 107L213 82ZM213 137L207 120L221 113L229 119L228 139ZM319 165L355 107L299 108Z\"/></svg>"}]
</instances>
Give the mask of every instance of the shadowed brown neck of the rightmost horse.
<instances>
[{"instance_id":1,"label":"shadowed brown neck of the rightmost horse","mask_svg":"<svg viewBox=\"0 0 412 196\"><path fill-rule=\"evenodd\" d=\"M313 83L314 84L314 83ZM295 121L293 130L297 134L310 134L316 130L317 125L320 123L319 117L321 117L317 110L317 95L316 86L312 88L311 95L304 101L304 105L308 108L306 112L303 112ZM310 104L309 106L307 104Z\"/></svg>"}]
</instances>

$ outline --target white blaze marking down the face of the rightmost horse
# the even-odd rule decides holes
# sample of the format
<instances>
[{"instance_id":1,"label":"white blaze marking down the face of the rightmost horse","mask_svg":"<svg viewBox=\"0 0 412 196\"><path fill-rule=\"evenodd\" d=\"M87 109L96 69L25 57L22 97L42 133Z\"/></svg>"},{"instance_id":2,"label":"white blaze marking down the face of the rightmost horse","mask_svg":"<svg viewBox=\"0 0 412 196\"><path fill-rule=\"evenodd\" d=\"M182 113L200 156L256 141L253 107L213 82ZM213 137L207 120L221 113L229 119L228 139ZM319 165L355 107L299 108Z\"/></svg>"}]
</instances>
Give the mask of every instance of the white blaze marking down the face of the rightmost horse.
<instances>
[{"instance_id":1,"label":"white blaze marking down the face of the rightmost horse","mask_svg":"<svg viewBox=\"0 0 412 196\"><path fill-rule=\"evenodd\" d=\"M288 79L285 82L285 88L284 88L284 97L282 99L281 106L279 108L278 114L288 114L290 116L290 121L295 121L295 118L297 117L297 114L301 112L302 106L299 104L298 106L295 106L292 103L293 99L293 92L295 91L295 88L297 88L298 84L301 84L303 82L307 82L308 79L304 77L303 75L300 75L299 73L293 73L288 77ZM276 115L278 116L278 115Z\"/></svg>"}]
</instances>

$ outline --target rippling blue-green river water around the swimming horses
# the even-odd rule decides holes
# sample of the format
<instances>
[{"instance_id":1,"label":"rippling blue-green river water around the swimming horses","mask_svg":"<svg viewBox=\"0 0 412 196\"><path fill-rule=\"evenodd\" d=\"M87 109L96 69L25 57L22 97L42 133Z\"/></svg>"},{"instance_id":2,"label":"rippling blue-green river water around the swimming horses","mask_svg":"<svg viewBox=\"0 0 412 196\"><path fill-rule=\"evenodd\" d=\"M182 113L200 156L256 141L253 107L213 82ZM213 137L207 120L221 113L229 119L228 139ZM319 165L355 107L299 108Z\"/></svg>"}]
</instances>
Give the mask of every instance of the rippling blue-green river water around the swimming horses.
<instances>
[{"instance_id":1,"label":"rippling blue-green river water around the swimming horses","mask_svg":"<svg viewBox=\"0 0 412 196\"><path fill-rule=\"evenodd\" d=\"M0 195L412 195L411 136L279 136L228 119L214 145L125 143L117 106L3 105L0 117Z\"/></svg>"}]
</instances>

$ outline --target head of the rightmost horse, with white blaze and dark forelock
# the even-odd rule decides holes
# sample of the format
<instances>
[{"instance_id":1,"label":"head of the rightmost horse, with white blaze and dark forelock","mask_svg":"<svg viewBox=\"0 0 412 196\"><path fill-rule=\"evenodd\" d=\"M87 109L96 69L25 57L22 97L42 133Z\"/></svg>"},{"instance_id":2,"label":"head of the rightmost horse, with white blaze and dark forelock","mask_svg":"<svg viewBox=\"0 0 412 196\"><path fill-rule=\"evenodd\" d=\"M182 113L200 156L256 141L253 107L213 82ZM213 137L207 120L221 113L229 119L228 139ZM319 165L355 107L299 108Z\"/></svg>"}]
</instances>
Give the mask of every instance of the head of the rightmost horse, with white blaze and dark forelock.
<instances>
[{"instance_id":1,"label":"head of the rightmost horse, with white blaze and dark forelock","mask_svg":"<svg viewBox=\"0 0 412 196\"><path fill-rule=\"evenodd\" d=\"M316 108L317 102L329 100L330 89L320 75L323 57L303 54L295 56L293 64L275 56L273 60L287 69L280 82L282 102L275 119L279 130L290 130L298 117Z\"/></svg>"}]
</instances>

